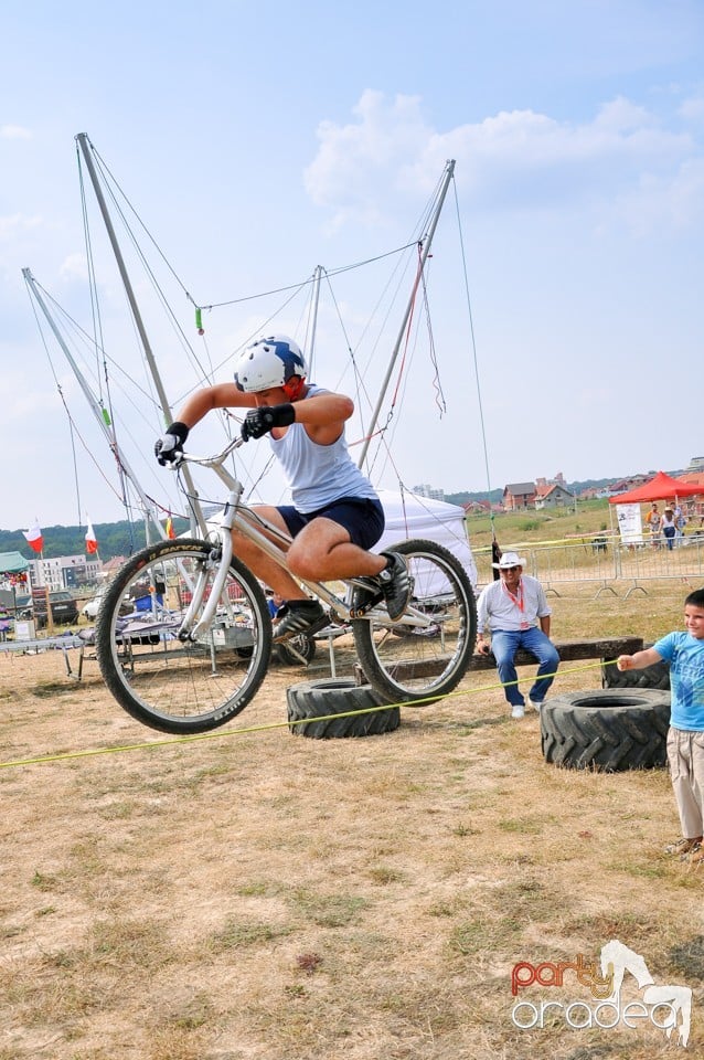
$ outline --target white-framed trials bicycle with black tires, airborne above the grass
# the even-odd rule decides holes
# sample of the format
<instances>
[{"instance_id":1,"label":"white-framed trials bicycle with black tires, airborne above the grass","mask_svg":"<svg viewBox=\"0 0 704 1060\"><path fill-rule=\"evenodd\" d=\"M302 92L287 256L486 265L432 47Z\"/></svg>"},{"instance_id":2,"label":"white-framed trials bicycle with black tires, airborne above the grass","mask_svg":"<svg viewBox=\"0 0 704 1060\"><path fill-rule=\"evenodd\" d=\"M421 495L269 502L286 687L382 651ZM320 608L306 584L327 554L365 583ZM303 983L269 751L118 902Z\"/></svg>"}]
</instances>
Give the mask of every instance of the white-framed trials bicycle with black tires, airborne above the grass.
<instances>
[{"instance_id":1,"label":"white-framed trials bicycle with black tires, airborne above the grass","mask_svg":"<svg viewBox=\"0 0 704 1060\"><path fill-rule=\"evenodd\" d=\"M196 733L223 725L250 702L269 667L271 618L264 590L233 554L233 528L284 569L291 538L243 501L243 484L223 466L242 444L212 457L177 462L211 468L228 490L220 524L205 539L148 544L119 570L96 622L96 656L118 703L161 732ZM366 681L388 702L431 702L457 687L477 634L474 594L456 556L440 544L392 547L408 563L413 593L392 622L373 580L300 584L349 624ZM340 592L339 586L342 586ZM125 617L126 597L135 602Z\"/></svg>"}]
</instances>

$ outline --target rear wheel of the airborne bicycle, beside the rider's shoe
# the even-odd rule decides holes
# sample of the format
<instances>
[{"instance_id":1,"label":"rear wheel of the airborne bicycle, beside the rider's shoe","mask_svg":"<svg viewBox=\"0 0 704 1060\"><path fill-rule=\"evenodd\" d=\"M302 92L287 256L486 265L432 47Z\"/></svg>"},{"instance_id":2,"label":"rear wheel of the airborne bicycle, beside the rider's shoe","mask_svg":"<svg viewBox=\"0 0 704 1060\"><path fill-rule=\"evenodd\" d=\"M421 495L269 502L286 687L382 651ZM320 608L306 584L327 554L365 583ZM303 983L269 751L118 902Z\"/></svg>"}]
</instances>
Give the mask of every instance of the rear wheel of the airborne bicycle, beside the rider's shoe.
<instances>
[{"instance_id":1,"label":"rear wheel of the airborne bicycle, beside the rider's shoe","mask_svg":"<svg viewBox=\"0 0 704 1060\"><path fill-rule=\"evenodd\" d=\"M390 702L434 702L460 682L472 660L477 605L465 568L435 541L391 547L408 564L413 592L392 622L383 605L352 623L360 665Z\"/></svg>"}]
</instances>

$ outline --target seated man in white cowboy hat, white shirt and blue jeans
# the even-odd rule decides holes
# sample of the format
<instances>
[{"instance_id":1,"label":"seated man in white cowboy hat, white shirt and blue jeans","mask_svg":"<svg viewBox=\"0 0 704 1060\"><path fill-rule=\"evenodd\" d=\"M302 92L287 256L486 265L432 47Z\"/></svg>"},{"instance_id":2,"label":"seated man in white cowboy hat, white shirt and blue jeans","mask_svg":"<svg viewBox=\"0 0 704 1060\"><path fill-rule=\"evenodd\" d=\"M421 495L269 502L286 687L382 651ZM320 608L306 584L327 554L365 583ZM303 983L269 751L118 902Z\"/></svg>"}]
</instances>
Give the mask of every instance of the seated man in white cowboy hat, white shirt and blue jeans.
<instances>
[{"instance_id":1,"label":"seated man in white cowboy hat, white shirt and blue jeans","mask_svg":"<svg viewBox=\"0 0 704 1060\"><path fill-rule=\"evenodd\" d=\"M540 710L559 665L557 649L550 639L552 610L537 579L523 573L525 560L518 552L504 552L499 562L491 565L499 571L500 579L490 582L479 596L477 647L482 655L493 651L503 691L511 704L511 717L522 718L525 700L519 689L513 660L519 648L525 648L537 659L540 665L529 702ZM491 645L484 640L487 629L491 632Z\"/></svg>"}]
</instances>

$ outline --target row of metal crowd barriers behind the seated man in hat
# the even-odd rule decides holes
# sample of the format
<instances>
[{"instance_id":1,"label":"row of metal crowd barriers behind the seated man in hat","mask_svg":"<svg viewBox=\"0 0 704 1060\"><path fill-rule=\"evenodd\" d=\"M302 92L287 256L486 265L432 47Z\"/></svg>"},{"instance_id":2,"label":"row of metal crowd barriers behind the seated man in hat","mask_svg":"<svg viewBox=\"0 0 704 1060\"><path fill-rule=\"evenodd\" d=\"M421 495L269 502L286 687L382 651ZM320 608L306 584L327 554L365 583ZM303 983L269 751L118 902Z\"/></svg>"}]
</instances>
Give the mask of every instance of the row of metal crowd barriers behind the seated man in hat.
<instances>
[{"instance_id":1,"label":"row of metal crowd barriers behind the seated man in hat","mask_svg":"<svg viewBox=\"0 0 704 1060\"><path fill-rule=\"evenodd\" d=\"M525 558L525 572L537 577L545 591L559 595L559 587L575 583L593 584L595 596L601 593L626 596L647 593L648 582L662 579L700 580L704 586L704 534L692 534L668 549L663 542L653 548L621 543L606 538L580 544L548 544L519 550ZM493 577L490 552L474 553L479 587Z\"/></svg>"}]
</instances>

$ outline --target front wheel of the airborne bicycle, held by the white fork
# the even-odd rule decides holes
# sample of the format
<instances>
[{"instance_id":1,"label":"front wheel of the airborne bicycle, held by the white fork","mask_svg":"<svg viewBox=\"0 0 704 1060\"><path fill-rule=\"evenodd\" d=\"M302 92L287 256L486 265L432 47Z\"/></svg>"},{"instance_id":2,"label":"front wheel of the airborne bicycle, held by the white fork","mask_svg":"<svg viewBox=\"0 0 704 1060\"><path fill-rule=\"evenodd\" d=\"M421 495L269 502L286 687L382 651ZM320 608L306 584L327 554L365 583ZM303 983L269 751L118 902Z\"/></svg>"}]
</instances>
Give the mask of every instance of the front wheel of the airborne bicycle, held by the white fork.
<instances>
[{"instance_id":1,"label":"front wheel of the airborne bicycle, held by the white fork","mask_svg":"<svg viewBox=\"0 0 704 1060\"><path fill-rule=\"evenodd\" d=\"M198 622L217 573L209 541L160 541L134 555L105 594L96 655L125 710L161 732L224 725L253 698L271 655L271 619L262 586L235 556L210 626L195 639L179 630L192 600Z\"/></svg>"}]
</instances>

